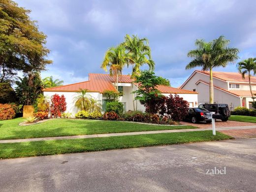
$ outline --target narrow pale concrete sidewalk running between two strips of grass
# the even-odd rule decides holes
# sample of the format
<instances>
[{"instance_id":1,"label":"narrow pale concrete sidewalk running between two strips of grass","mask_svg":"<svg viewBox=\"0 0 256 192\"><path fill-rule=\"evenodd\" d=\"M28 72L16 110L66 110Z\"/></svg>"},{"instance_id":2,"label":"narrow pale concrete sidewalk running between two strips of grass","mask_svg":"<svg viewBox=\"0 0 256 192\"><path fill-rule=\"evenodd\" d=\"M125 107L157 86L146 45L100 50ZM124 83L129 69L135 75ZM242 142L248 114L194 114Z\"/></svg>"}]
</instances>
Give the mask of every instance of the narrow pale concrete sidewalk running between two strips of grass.
<instances>
[{"instance_id":1,"label":"narrow pale concrete sidewalk running between two strips of grass","mask_svg":"<svg viewBox=\"0 0 256 192\"><path fill-rule=\"evenodd\" d=\"M212 128L190 128L190 129L152 130L152 131L139 131L139 132L92 134L92 135L75 135L75 136L62 136L62 137L44 137L44 138L30 138L30 139L9 139L9 140L0 140L0 143L18 143L18 142L28 142L28 141L47 141L47 140L61 140L61 139L84 139L84 138L95 138L95 137L111 137L111 136L140 135L140 134L203 131L203 130L211 130L211 129ZM244 127L216 128L217 131L237 130L237 129L256 129L256 125L255 126L244 126Z\"/></svg>"}]
</instances>

